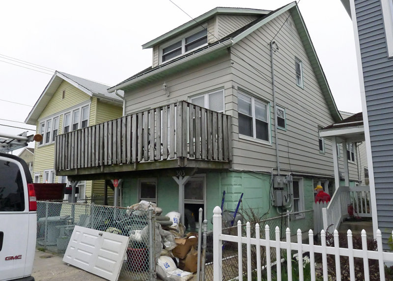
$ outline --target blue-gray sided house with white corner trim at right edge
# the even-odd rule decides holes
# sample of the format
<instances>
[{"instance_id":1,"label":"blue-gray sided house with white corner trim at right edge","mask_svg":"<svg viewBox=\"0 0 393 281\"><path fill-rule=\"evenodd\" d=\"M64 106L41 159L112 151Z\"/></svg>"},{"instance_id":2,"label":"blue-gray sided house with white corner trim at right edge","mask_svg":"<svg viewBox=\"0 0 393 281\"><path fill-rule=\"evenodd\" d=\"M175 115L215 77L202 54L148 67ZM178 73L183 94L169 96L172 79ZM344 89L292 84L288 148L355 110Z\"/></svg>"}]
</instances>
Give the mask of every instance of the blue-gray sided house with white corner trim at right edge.
<instances>
[{"instance_id":1,"label":"blue-gray sided house with white corner trim at right edge","mask_svg":"<svg viewBox=\"0 0 393 281\"><path fill-rule=\"evenodd\" d=\"M393 230L393 3L341 2L355 34L374 235L380 229L388 249Z\"/></svg>"}]
</instances>

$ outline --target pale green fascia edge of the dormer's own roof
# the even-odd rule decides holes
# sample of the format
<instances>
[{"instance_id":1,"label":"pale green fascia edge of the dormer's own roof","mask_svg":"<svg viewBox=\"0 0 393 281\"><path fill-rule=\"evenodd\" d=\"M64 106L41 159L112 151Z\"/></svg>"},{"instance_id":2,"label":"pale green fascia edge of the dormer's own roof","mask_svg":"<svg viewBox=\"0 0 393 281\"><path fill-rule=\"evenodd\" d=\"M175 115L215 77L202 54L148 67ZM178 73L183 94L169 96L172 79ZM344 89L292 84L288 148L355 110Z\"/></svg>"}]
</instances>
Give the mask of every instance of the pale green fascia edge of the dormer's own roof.
<instances>
[{"instance_id":1,"label":"pale green fascia edge of the dormer's own roof","mask_svg":"<svg viewBox=\"0 0 393 281\"><path fill-rule=\"evenodd\" d=\"M238 9L238 8L214 8L213 10L210 10L203 15L200 15L199 17L171 30L168 31L167 33L145 43L142 45L142 49L147 49L147 48L152 48L154 45L157 45L158 43L167 40L169 37L172 37L174 35L180 34L196 25L200 25L207 21L208 19L212 18L214 15L219 15L219 14L233 14L233 15L251 15L251 14L256 14L256 15L265 15L269 13L270 11L268 10L254 10L254 9Z\"/></svg>"}]
</instances>

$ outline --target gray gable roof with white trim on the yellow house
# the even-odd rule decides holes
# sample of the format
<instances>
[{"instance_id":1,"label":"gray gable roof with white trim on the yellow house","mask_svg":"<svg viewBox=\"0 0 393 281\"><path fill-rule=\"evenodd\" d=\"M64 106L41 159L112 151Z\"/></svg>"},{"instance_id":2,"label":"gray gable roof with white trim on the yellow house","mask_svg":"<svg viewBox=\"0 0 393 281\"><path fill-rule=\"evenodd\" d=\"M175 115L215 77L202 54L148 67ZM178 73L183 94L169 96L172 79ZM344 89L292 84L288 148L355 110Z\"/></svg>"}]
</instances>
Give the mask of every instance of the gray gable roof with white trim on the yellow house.
<instances>
[{"instance_id":1,"label":"gray gable roof with white trim on the yellow house","mask_svg":"<svg viewBox=\"0 0 393 281\"><path fill-rule=\"evenodd\" d=\"M85 94L100 98L108 103L121 106L123 104L122 99L114 93L108 93L108 85L104 85L98 82L87 80L78 76L74 76L68 73L56 71L49 81L48 85L45 87L44 92L40 95L38 100L35 102L33 108L31 109L28 117L25 120L26 124L35 125L42 111L48 105L55 94L57 88L63 81L67 81L74 87L78 88Z\"/></svg>"}]
</instances>

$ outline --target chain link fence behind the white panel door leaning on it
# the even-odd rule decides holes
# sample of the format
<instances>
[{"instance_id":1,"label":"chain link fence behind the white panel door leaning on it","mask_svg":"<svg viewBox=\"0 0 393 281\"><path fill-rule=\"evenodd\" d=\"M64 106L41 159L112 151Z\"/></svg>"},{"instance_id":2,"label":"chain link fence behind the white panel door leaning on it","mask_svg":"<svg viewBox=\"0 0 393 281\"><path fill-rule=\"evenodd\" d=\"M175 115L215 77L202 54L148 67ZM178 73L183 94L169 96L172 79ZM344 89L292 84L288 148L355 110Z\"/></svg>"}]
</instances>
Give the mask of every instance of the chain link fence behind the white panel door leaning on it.
<instances>
[{"instance_id":1,"label":"chain link fence behind the white panel door leaning on it","mask_svg":"<svg viewBox=\"0 0 393 281\"><path fill-rule=\"evenodd\" d=\"M38 201L37 249L63 256L75 225L129 236L120 275L130 280L154 280L155 218L151 211Z\"/></svg>"}]
</instances>

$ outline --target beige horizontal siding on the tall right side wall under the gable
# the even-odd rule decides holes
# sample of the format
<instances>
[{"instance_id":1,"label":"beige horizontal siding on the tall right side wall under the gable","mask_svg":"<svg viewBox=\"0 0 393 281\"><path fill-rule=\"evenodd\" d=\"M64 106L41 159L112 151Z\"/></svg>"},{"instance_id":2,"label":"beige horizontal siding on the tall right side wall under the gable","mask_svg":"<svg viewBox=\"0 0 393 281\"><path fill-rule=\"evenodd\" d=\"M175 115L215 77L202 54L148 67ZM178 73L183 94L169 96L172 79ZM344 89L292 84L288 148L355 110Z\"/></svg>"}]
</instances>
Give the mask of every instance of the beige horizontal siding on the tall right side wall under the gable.
<instances>
[{"instance_id":1,"label":"beige horizontal siding on the tall right side wall under the gable","mask_svg":"<svg viewBox=\"0 0 393 281\"><path fill-rule=\"evenodd\" d=\"M284 24L288 15L288 12L282 14L231 48L235 88L243 88L255 97L270 102L272 133L272 145L241 139L237 134L238 121L235 116L233 166L235 169L264 171L277 166L269 42L283 25L275 38L279 51L274 53L277 104L285 109L287 124L286 130L278 130L281 170L333 175L331 142L325 140L325 153L321 154L318 126L330 125L334 120L298 32L293 25ZM303 62L304 89L296 85L295 57ZM256 73L248 63L263 74ZM233 92L237 94L236 89Z\"/></svg>"}]
</instances>

